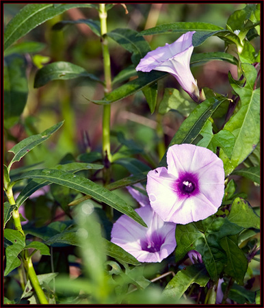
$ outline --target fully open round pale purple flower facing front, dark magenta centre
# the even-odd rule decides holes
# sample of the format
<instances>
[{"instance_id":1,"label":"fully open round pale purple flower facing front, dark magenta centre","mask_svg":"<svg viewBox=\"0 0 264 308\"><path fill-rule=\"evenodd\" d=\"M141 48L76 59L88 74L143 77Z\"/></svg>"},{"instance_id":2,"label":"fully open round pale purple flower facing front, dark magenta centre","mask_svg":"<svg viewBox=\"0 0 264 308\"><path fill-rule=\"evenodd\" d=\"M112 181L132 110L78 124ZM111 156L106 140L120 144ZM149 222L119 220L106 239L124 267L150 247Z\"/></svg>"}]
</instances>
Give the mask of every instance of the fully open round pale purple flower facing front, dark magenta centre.
<instances>
[{"instance_id":1,"label":"fully open round pale purple flower facing front, dark magenta centre","mask_svg":"<svg viewBox=\"0 0 264 308\"><path fill-rule=\"evenodd\" d=\"M168 169L148 172L150 205L164 221L187 224L217 211L224 196L224 166L209 149L174 144L167 153Z\"/></svg>"}]
</instances>

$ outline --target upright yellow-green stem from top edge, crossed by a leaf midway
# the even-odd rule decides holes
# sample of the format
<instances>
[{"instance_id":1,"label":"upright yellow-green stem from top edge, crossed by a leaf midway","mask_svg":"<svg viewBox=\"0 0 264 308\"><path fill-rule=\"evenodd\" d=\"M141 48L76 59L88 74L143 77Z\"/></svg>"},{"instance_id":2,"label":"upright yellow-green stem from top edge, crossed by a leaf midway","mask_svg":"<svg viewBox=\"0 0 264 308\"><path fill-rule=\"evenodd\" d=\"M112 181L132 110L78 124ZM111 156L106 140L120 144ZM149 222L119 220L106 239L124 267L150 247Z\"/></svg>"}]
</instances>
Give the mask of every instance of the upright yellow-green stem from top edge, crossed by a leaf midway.
<instances>
[{"instance_id":1,"label":"upright yellow-green stem from top edge, crossed by a leaf midway","mask_svg":"<svg viewBox=\"0 0 264 308\"><path fill-rule=\"evenodd\" d=\"M107 11L105 3L99 4L99 18L101 22L101 43L103 49L103 68L105 74L105 94L111 92L111 63L108 49L108 41L105 34L107 33ZM103 106L103 157L107 157L111 162L110 151L110 118L111 106Z\"/></svg>"}]
</instances>

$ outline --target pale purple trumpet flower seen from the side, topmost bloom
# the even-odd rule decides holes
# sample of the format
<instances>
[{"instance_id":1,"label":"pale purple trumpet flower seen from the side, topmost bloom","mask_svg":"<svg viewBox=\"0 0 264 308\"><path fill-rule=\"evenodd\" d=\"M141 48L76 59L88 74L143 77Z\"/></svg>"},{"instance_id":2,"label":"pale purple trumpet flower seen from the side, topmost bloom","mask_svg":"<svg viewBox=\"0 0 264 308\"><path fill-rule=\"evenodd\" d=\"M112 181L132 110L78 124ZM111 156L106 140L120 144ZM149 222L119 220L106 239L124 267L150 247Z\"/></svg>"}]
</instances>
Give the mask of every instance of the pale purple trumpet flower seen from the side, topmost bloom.
<instances>
[{"instance_id":1,"label":"pale purple trumpet flower seen from the side, topmost bloom","mask_svg":"<svg viewBox=\"0 0 264 308\"><path fill-rule=\"evenodd\" d=\"M200 102L200 91L189 68L194 50L192 44L194 33L195 31L187 32L172 44L166 43L165 46L148 52L135 69L142 72L160 70L170 73L194 101Z\"/></svg>"}]
</instances>

